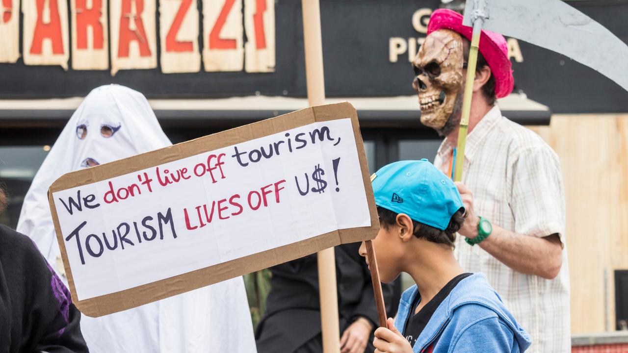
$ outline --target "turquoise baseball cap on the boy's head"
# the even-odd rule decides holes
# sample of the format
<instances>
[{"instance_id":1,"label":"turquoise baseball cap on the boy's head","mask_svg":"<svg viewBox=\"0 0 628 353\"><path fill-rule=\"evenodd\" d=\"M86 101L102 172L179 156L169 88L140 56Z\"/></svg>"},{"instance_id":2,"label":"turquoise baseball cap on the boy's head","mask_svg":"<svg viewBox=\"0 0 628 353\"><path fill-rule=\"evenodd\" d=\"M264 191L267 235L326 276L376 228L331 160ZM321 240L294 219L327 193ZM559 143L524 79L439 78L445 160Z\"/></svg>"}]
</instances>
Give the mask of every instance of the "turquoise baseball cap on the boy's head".
<instances>
[{"instance_id":1,"label":"turquoise baseball cap on the boy's head","mask_svg":"<svg viewBox=\"0 0 628 353\"><path fill-rule=\"evenodd\" d=\"M371 176L375 203L444 231L463 208L458 188L428 160L398 161Z\"/></svg>"}]
</instances>

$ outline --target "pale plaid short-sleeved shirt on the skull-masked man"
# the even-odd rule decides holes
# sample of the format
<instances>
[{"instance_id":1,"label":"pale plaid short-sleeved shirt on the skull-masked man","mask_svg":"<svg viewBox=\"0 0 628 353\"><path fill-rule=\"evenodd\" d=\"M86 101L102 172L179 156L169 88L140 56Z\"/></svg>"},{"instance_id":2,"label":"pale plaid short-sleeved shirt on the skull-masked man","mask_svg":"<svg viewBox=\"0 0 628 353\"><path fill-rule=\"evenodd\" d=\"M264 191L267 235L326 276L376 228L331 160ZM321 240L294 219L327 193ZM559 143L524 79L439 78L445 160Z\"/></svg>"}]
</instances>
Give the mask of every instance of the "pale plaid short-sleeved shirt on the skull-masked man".
<instances>
[{"instance_id":1,"label":"pale plaid short-sleeved shirt on the skull-masked man","mask_svg":"<svg viewBox=\"0 0 628 353\"><path fill-rule=\"evenodd\" d=\"M445 139L436 154L434 164L445 173L453 148ZM468 134L462 182L473 192L475 214L492 224L522 236L560 235L563 266L554 280L514 271L482 247L469 246L462 236L457 237L455 255L465 271L486 274L532 336L528 352L570 352L565 195L558 156L495 106Z\"/></svg>"}]
</instances>

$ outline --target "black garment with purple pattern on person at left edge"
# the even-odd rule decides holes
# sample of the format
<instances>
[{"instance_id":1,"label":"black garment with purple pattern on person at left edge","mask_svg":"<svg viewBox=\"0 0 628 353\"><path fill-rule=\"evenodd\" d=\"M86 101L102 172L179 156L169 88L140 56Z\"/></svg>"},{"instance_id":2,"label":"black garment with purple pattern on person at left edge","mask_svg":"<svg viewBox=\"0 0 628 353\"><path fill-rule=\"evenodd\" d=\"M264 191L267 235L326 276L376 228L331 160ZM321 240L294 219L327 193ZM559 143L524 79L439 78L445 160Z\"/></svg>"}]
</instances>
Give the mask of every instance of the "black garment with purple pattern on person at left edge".
<instances>
[{"instance_id":1,"label":"black garment with purple pattern on person at left edge","mask_svg":"<svg viewBox=\"0 0 628 353\"><path fill-rule=\"evenodd\" d=\"M80 312L29 237L0 225L0 353L88 352Z\"/></svg>"}]
</instances>

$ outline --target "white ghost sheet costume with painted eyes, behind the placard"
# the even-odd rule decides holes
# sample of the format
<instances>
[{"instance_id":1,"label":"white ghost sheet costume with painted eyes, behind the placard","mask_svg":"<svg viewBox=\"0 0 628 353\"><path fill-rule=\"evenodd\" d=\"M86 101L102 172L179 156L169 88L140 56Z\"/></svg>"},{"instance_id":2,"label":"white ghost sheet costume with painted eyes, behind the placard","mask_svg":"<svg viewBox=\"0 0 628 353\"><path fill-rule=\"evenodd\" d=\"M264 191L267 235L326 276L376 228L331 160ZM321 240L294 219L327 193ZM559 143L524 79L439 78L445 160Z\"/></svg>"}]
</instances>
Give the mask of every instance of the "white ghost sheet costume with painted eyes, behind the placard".
<instances>
[{"instance_id":1,"label":"white ghost sheet costume with painted eyes, behind the placard","mask_svg":"<svg viewBox=\"0 0 628 353\"><path fill-rule=\"evenodd\" d=\"M170 145L144 95L120 85L92 90L35 175L18 231L35 241L67 285L48 187L70 171ZM82 315L81 330L92 353L256 352L242 277L104 317Z\"/></svg>"}]
</instances>

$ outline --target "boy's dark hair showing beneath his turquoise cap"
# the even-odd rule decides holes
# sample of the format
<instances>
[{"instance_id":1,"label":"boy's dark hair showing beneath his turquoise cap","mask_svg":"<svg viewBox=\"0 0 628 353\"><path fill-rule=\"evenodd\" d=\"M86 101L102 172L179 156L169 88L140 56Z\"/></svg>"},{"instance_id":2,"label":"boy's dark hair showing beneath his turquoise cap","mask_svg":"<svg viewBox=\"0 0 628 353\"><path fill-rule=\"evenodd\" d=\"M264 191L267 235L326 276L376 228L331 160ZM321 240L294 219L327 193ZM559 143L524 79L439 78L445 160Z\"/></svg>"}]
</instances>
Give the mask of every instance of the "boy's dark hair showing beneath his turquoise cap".
<instances>
[{"instance_id":1,"label":"boy's dark hair showing beneath his turquoise cap","mask_svg":"<svg viewBox=\"0 0 628 353\"><path fill-rule=\"evenodd\" d=\"M380 224L385 229L389 229L389 227L397 224L398 214L396 212L377 206L377 214L379 214ZM446 244L454 247L456 232L460 229L460 227L462 227L462 224L465 222L465 217L466 215L464 209L458 210L452 215L452 218L449 220L449 224L444 231L421 222L416 222L416 220L412 220L412 225L414 227L413 234L419 239L425 239L426 241Z\"/></svg>"}]
</instances>

